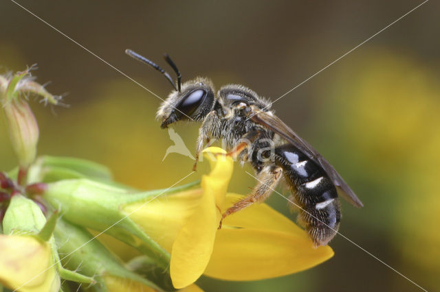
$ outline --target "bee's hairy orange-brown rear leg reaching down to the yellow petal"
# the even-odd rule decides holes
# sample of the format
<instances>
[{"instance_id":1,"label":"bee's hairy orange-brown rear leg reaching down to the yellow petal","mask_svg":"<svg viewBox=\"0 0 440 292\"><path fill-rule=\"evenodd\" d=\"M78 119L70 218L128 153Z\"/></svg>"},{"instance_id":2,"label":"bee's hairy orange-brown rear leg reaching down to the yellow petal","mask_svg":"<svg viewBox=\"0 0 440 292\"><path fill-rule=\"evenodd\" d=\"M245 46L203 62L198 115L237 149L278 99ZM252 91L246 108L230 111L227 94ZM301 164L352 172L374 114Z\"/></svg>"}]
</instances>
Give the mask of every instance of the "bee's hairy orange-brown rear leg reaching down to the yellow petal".
<instances>
[{"instance_id":1,"label":"bee's hairy orange-brown rear leg reaching down to the yellow petal","mask_svg":"<svg viewBox=\"0 0 440 292\"><path fill-rule=\"evenodd\" d=\"M225 210L223 215L221 215L219 229L221 228L221 223L225 217L251 206L254 203L264 202L278 184L282 173L283 169L281 167L276 167L274 165L267 165L263 167L263 169L257 175L257 180L259 183L252 189L250 195L244 197L239 202L236 202L230 208Z\"/></svg>"}]
</instances>

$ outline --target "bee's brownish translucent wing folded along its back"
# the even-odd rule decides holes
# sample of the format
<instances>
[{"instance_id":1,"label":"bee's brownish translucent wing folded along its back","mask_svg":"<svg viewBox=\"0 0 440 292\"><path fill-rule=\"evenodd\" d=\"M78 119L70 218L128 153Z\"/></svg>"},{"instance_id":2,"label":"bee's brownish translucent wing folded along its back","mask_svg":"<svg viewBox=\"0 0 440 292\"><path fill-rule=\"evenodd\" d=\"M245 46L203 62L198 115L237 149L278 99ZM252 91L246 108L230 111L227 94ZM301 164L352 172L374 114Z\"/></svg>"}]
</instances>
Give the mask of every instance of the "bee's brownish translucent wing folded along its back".
<instances>
[{"instance_id":1,"label":"bee's brownish translucent wing folded along its back","mask_svg":"<svg viewBox=\"0 0 440 292\"><path fill-rule=\"evenodd\" d=\"M286 125L281 119L272 114L272 112L251 111L248 117L255 123L259 123L270 130L276 132L276 134L285 138L286 141L292 143L295 147L303 151L311 160L318 163L325 170L329 178L335 184L338 195L346 199L350 204L355 207L361 208L364 205L360 202L360 199L356 197L355 193L351 190L347 182L340 176L340 174L334 169L331 164L325 160L315 149L311 147L303 138L298 136L288 125Z\"/></svg>"}]
</instances>

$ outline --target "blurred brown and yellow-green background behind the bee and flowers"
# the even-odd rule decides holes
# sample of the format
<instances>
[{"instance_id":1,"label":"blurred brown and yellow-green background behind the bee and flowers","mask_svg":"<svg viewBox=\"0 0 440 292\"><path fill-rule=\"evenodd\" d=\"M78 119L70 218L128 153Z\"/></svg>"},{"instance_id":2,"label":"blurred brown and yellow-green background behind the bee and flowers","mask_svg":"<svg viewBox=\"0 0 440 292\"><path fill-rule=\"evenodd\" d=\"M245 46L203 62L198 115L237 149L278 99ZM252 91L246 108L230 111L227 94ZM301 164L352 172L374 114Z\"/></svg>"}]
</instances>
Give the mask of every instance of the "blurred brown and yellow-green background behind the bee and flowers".
<instances>
[{"instance_id":1,"label":"blurred brown and yellow-green background behind the bee and flowers","mask_svg":"<svg viewBox=\"0 0 440 292\"><path fill-rule=\"evenodd\" d=\"M167 52L184 80L244 84L274 100L421 1L19 3L162 98L168 82L124 49L164 67ZM362 209L342 202L340 232L430 291L440 291L439 11L428 1L273 106L364 202ZM69 108L32 104L39 154L98 161L116 180L144 189L190 173L184 156L162 162L173 142L155 121L157 97L11 1L0 3L0 27L2 72L38 63L37 80L68 93ZM193 151L197 125L175 129ZM3 170L16 163L3 119L0 160ZM184 182L206 169L199 165ZM254 186L245 170L237 165L230 191ZM285 199L274 194L268 203L289 215ZM331 247L327 263L292 276L197 283L206 291L419 291L342 236Z\"/></svg>"}]
</instances>

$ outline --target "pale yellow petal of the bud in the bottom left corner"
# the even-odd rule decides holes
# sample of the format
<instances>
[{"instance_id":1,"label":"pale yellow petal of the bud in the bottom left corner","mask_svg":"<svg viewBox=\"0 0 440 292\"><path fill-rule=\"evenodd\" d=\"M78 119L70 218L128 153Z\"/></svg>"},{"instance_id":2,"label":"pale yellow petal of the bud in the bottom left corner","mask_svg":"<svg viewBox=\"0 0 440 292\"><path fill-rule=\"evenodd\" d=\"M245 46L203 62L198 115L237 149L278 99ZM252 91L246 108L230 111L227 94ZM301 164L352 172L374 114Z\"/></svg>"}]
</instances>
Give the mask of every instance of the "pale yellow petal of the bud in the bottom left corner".
<instances>
[{"instance_id":1,"label":"pale yellow petal of the bud in the bottom left corner","mask_svg":"<svg viewBox=\"0 0 440 292\"><path fill-rule=\"evenodd\" d=\"M0 235L0 282L23 292L58 291L48 243L32 236Z\"/></svg>"}]
</instances>

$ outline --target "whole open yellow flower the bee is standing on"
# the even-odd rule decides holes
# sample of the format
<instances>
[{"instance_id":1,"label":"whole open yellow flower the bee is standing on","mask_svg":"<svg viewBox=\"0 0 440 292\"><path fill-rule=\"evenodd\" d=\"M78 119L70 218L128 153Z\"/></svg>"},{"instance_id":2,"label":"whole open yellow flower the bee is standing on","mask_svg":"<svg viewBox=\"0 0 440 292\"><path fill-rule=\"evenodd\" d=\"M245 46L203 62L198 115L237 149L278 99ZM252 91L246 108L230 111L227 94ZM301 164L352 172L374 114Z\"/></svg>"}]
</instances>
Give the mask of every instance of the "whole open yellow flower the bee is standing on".
<instances>
[{"instance_id":1,"label":"whole open yellow flower the bee is standing on","mask_svg":"<svg viewBox=\"0 0 440 292\"><path fill-rule=\"evenodd\" d=\"M175 288L187 287L203 273L223 280L284 276L333 256L331 247L314 248L307 232L266 204L226 217L223 228L217 230L222 212L242 196L226 195L232 159L214 157L212 154L225 154L220 148L210 147L204 152L212 171L203 175L201 190L122 208L171 253L170 275Z\"/></svg>"}]
</instances>

